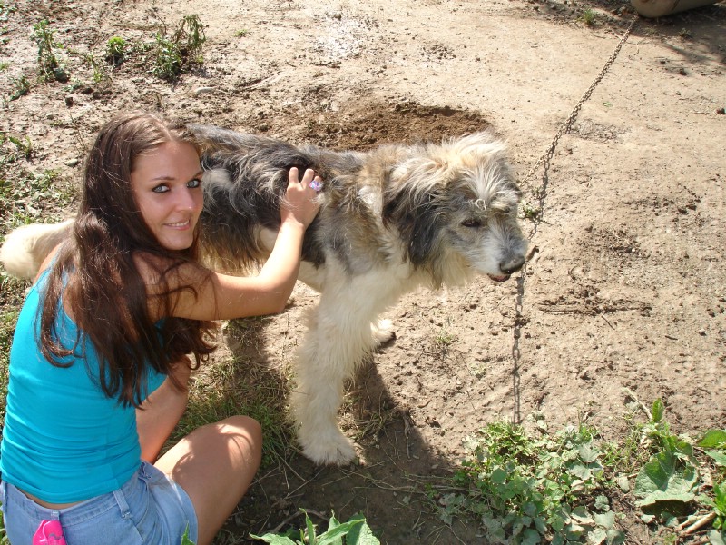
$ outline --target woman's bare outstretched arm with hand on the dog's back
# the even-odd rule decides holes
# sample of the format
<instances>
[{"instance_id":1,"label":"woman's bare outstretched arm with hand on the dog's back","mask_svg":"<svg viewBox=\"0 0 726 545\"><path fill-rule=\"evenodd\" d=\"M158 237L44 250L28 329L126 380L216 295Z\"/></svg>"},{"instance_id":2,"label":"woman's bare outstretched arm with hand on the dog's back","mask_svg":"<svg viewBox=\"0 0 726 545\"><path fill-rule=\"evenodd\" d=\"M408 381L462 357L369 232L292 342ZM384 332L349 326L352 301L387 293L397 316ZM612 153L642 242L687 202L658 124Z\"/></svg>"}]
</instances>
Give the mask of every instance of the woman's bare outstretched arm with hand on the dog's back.
<instances>
[{"instance_id":1,"label":"woman's bare outstretched arm with hand on the dog's back","mask_svg":"<svg viewBox=\"0 0 726 545\"><path fill-rule=\"evenodd\" d=\"M172 301L172 315L192 320L227 320L281 312L298 278L305 230L319 210L315 202L317 193L309 187L314 175L308 170L299 181L298 169L290 169L287 203L280 210L280 232L257 276L230 276L209 272L199 265L182 265L172 284L192 285L197 295L188 290L177 293ZM140 264L142 274L144 269L148 274L149 268ZM152 283L149 288L152 292ZM162 317L161 312L154 313Z\"/></svg>"}]
</instances>

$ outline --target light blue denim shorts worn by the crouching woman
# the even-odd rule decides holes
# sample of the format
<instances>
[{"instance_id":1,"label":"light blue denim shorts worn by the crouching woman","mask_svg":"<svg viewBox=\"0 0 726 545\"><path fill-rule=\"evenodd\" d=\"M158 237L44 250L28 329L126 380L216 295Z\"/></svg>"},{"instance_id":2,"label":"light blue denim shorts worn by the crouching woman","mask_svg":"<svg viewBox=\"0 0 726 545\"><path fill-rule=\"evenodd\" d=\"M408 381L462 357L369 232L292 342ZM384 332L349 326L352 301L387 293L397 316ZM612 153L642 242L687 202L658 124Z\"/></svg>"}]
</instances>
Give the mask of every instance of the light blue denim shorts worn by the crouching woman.
<instances>
[{"instance_id":1,"label":"light blue denim shorts worn by the crouching woman","mask_svg":"<svg viewBox=\"0 0 726 545\"><path fill-rule=\"evenodd\" d=\"M59 520L68 545L178 545L182 536L197 541L197 516L182 487L142 461L119 490L71 507L44 508L0 482L5 531L13 545L31 545L43 520Z\"/></svg>"}]
</instances>

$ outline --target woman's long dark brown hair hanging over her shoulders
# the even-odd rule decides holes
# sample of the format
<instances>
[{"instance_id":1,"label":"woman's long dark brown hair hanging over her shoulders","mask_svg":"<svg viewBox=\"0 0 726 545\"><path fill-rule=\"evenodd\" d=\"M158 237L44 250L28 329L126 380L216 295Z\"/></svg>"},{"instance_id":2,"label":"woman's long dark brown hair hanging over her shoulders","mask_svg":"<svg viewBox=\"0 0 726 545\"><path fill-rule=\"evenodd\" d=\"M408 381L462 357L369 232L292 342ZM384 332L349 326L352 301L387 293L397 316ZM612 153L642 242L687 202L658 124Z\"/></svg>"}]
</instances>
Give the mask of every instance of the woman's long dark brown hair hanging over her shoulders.
<instances>
[{"instance_id":1,"label":"woman's long dark brown hair hanging over her shoulders","mask_svg":"<svg viewBox=\"0 0 726 545\"><path fill-rule=\"evenodd\" d=\"M86 337L98 353L104 394L134 407L149 393L147 366L169 374L173 381L173 364L184 354L193 354L191 368L195 369L214 350L211 322L171 315L174 292L196 294L191 285L170 289L168 278L182 263L197 261L198 233L187 250L166 250L143 221L132 191L136 158L168 142L198 149L184 124L153 114L123 114L103 126L86 161L73 238L62 244L55 257L40 312L44 357L54 365L69 366L69 357L85 358ZM148 256L149 263L164 263L157 265L158 308L167 316L160 322L153 321L146 284L134 262L139 253ZM66 288L70 295L66 301L78 326L74 346L64 346L56 331Z\"/></svg>"}]
</instances>

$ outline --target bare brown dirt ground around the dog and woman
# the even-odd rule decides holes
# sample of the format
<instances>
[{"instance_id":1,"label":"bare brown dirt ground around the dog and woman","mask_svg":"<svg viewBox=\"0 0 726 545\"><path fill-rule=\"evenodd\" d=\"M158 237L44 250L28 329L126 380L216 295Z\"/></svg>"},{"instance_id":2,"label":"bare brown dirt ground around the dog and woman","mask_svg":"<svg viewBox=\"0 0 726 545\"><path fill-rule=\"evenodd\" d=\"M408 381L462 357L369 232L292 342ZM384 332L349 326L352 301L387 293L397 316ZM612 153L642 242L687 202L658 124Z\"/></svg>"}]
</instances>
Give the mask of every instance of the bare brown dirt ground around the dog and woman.
<instances>
[{"instance_id":1,"label":"bare brown dirt ground around the dog and woman","mask_svg":"<svg viewBox=\"0 0 726 545\"><path fill-rule=\"evenodd\" d=\"M534 204L543 170L527 173L633 17L605 0L2 5L0 131L34 143L31 170L78 177L93 133L136 108L338 149L488 127ZM137 56L93 83L83 55L103 59L113 35L152 41L182 15L205 25L201 67L170 84ZM30 35L42 18L65 45L71 80L9 100L18 78L35 77ZM536 410L553 426L586 418L616 436L628 389L648 405L662 399L674 431L723 427L725 71L723 3L640 19L559 140L524 278L398 302L388 314L397 338L361 370L347 409L364 462L316 468L294 456L261 472L219 541L242 542L304 507L341 520L363 512L384 543L483 542L406 490L446 475L486 422ZM284 370L314 303L299 286L244 349L250 365ZM634 518L623 524L629 542L657 541Z\"/></svg>"}]
</instances>

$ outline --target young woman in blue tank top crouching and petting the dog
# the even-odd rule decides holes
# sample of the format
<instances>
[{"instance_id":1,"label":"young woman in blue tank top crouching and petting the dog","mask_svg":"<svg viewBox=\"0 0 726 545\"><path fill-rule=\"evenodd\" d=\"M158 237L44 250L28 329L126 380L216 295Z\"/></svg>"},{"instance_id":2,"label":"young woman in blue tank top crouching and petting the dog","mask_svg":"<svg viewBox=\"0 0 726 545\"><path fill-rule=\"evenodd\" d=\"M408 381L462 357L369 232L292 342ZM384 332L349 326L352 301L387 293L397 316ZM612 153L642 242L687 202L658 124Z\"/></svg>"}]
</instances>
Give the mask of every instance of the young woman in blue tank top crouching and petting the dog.
<instances>
[{"instance_id":1,"label":"young woman in blue tank top crouching and petting the dog","mask_svg":"<svg viewBox=\"0 0 726 545\"><path fill-rule=\"evenodd\" d=\"M233 416L158 457L214 320L280 312L318 212L289 172L270 258L254 277L198 261L200 158L150 114L103 126L74 236L41 267L10 353L0 471L13 545L210 543L260 463L260 425ZM317 179L319 181L319 179ZM54 540L54 539L58 540Z\"/></svg>"}]
</instances>

